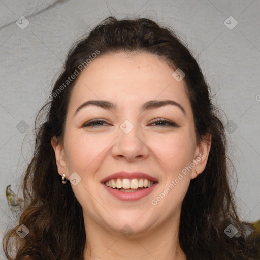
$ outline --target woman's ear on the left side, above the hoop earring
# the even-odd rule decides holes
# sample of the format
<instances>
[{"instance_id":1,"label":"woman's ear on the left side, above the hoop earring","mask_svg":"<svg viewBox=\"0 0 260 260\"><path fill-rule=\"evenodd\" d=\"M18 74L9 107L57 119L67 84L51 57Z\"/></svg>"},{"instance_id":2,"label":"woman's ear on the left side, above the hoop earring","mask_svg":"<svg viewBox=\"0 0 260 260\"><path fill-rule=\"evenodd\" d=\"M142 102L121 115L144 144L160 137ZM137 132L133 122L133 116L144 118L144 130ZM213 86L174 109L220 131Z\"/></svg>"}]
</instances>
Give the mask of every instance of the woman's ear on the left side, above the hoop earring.
<instances>
[{"instance_id":1,"label":"woman's ear on the left side, above the hoop earring","mask_svg":"<svg viewBox=\"0 0 260 260\"><path fill-rule=\"evenodd\" d=\"M66 158L62 142L54 136L51 139L51 146L55 152L56 165L58 168L59 175L62 176L64 173L66 174L66 176L68 176Z\"/></svg>"}]
</instances>

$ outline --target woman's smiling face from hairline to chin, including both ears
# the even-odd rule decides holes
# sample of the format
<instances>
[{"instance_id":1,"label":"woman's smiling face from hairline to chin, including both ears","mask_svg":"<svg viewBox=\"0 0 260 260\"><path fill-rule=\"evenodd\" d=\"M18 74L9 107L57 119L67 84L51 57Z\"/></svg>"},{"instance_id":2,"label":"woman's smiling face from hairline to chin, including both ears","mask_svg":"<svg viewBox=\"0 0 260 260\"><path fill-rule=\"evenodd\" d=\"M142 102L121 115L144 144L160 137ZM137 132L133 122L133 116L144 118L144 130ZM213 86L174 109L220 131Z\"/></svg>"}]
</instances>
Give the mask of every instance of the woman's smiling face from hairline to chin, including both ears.
<instances>
[{"instance_id":1,"label":"woman's smiling face from hairline to chin, including both ears","mask_svg":"<svg viewBox=\"0 0 260 260\"><path fill-rule=\"evenodd\" d=\"M141 52L100 56L79 76L63 143L53 139L52 145L59 174L77 183L72 188L86 222L115 232L125 225L145 232L178 221L195 170L199 174L206 166L209 146L197 146L185 78L178 82L172 73L165 61ZM109 103L84 105L90 100ZM166 100L172 103L155 104ZM125 175L114 176L115 185L117 179L132 187L142 186L140 179L154 184L130 193L103 183L121 171Z\"/></svg>"}]
</instances>

